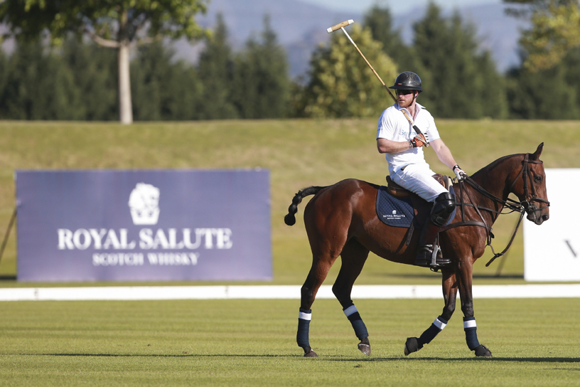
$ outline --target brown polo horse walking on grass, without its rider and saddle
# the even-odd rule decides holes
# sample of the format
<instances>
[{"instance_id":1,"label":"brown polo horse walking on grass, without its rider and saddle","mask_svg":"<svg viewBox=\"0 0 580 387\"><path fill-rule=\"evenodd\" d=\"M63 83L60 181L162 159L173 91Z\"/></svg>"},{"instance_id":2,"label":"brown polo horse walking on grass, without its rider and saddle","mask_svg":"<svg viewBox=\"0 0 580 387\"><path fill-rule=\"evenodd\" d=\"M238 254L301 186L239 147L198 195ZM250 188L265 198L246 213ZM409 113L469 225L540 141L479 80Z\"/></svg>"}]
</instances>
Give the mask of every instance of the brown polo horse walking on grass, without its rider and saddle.
<instances>
[{"instance_id":1,"label":"brown polo horse walking on grass, without its rider and saddle","mask_svg":"<svg viewBox=\"0 0 580 387\"><path fill-rule=\"evenodd\" d=\"M418 351L445 327L455 310L457 291L461 295L463 327L469 349L476 356L491 356L480 345L473 317L473 263L490 244L491 226L503 208L527 213L527 219L542 224L549 218L546 193L546 175L539 160L544 144L532 154L513 154L502 157L477 171L464 182L453 184L456 193L456 216L441 229L439 244L451 265L441 269L445 306L441 316L419 337L409 337L404 354ZM358 349L370 354L368 332L363 319L350 298L353 284L363 270L369 251L397 263L412 265L417 253L419 232L407 239L408 228L392 227L382 223L375 211L379 186L355 179L340 181L332 186L311 186L299 191L289 207L284 222L296 223L294 214L302 198L315 196L304 210L304 223L312 250L312 267L301 288L299 326L296 335L304 356L318 356L308 340L311 306L318 288L340 255L342 266L332 290L360 339ZM518 201L508 198L515 194ZM521 220L520 216L520 220Z\"/></svg>"}]
</instances>

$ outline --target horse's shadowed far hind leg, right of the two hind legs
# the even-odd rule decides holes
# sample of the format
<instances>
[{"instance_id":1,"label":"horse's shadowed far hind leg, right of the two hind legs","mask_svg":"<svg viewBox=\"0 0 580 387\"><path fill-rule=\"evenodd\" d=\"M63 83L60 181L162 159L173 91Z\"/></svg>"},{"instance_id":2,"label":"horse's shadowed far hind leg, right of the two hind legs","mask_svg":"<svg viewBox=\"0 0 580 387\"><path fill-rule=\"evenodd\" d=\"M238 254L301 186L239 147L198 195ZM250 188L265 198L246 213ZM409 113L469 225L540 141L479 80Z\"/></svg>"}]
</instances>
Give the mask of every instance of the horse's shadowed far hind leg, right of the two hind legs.
<instances>
[{"instance_id":1,"label":"horse's shadowed far hind leg, right of the two hind legs","mask_svg":"<svg viewBox=\"0 0 580 387\"><path fill-rule=\"evenodd\" d=\"M350 298L350 292L353 290L353 285L358 275L360 275L360 271L363 270L368 253L369 250L358 243L358 240L352 239L346 243L342 253L340 253L342 260L340 272L338 272L338 277L336 277L333 285L333 293L343 307L345 316L350 321L350 324L353 325L355 334L360 340L358 349L365 355L370 355L368 331L353 300Z\"/></svg>"}]
</instances>

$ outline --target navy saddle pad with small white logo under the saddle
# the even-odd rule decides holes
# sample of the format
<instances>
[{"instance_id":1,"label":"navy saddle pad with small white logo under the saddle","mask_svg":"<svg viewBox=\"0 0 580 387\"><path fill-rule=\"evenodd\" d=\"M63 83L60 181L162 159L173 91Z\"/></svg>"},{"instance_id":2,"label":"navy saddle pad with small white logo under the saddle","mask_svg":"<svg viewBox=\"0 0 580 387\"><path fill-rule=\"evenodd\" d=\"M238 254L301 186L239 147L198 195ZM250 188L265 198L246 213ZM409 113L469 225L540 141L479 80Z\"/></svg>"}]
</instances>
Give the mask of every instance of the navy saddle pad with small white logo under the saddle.
<instances>
[{"instance_id":1,"label":"navy saddle pad with small white logo under the saddle","mask_svg":"<svg viewBox=\"0 0 580 387\"><path fill-rule=\"evenodd\" d=\"M453 186L449 187L449 191L453 194ZM457 207L449 216L449 221L446 225L453 221ZM415 216L411 198L395 198L387 192L386 186L380 186L377 193L377 216L389 226L394 227L411 227Z\"/></svg>"}]
</instances>

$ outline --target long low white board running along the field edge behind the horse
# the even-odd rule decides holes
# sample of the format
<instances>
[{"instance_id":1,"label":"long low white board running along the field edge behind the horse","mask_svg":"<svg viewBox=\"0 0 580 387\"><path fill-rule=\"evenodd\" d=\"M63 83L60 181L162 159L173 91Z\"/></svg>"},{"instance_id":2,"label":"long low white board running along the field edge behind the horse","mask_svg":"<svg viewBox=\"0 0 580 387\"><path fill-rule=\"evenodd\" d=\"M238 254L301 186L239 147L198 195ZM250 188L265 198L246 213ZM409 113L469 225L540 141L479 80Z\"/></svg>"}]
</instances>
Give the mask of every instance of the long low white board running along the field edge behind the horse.
<instances>
[{"instance_id":1,"label":"long low white board running along the field edge behind the horse","mask_svg":"<svg viewBox=\"0 0 580 387\"><path fill-rule=\"evenodd\" d=\"M318 299L335 298L331 285ZM439 299L439 285L355 285L353 299ZM474 285L475 298L576 298L580 284ZM300 285L21 287L0 289L0 301L86 301L156 299L299 299Z\"/></svg>"}]
</instances>

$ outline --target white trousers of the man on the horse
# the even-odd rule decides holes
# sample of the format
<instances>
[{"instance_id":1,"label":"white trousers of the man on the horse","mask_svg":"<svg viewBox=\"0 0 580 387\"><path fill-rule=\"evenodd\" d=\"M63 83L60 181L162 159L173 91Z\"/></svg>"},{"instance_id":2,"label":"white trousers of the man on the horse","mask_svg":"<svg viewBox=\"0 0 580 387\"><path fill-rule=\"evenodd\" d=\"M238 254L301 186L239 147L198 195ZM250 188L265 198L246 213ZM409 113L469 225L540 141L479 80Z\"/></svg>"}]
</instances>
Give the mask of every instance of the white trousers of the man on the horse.
<instances>
[{"instance_id":1,"label":"white trousers of the man on the horse","mask_svg":"<svg viewBox=\"0 0 580 387\"><path fill-rule=\"evenodd\" d=\"M433 203L439 194L449 192L439 181L433 179L434 171L429 164L409 164L391 176L392 181Z\"/></svg>"}]
</instances>

